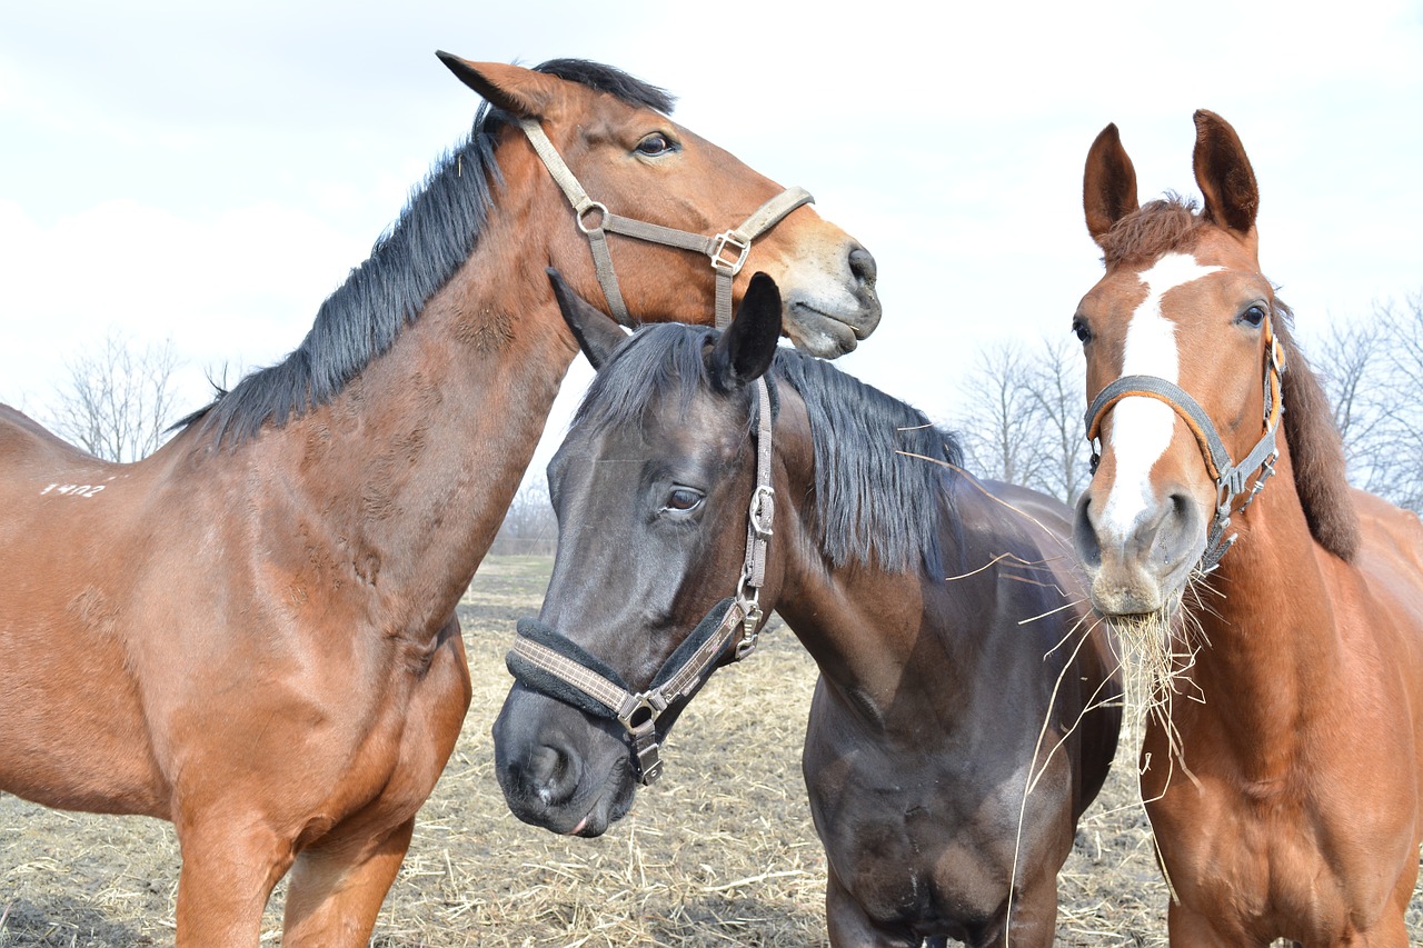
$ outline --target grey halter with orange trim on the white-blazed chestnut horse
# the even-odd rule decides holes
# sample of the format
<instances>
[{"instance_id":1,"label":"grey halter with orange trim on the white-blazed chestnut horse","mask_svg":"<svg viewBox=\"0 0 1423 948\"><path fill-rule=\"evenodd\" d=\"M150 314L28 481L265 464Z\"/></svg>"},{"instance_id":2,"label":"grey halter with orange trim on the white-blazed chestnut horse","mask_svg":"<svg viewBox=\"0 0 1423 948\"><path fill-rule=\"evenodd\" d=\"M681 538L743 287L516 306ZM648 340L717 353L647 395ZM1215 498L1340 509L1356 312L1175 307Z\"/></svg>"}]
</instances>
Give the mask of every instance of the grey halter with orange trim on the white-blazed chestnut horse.
<instances>
[{"instance_id":1,"label":"grey halter with orange trim on the white-blazed chestnut horse","mask_svg":"<svg viewBox=\"0 0 1423 948\"><path fill-rule=\"evenodd\" d=\"M1205 551L1201 554L1201 571L1211 572L1220 565L1221 557L1229 549L1238 534L1225 535L1231 525L1231 512L1235 498L1245 493L1245 481L1259 470L1259 477L1249 488L1249 494L1239 505L1244 511L1249 507L1255 495L1265 488L1265 481L1275 473L1275 460L1279 448L1275 444L1275 434L1279 431L1279 418L1285 411L1284 393L1281 391L1281 376L1285 373L1285 359L1275 337L1271 316L1265 316L1265 434L1261 436L1255 447L1239 464L1231 461L1231 453L1225 450L1225 443L1211 417L1205 414L1200 403L1174 381L1167 381L1158 376L1121 376L1093 399L1087 409L1087 443L1091 446L1091 473L1097 473L1097 463L1101 460L1101 420L1123 399L1146 397L1165 403L1173 411L1181 416L1185 427L1195 436L1201 448L1201 458L1205 470L1215 481L1215 517L1211 521L1211 531L1205 538Z\"/></svg>"}]
</instances>

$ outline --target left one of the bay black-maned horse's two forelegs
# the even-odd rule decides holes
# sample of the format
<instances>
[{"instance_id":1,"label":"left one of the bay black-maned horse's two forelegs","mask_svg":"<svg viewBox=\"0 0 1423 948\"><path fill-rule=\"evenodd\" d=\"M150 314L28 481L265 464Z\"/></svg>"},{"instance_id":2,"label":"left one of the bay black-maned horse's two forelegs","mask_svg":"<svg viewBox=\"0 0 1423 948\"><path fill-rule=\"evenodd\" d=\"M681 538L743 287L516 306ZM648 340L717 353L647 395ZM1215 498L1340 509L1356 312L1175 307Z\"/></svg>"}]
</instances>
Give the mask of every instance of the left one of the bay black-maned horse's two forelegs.
<instances>
[{"instance_id":1,"label":"left one of the bay black-maned horse's two forelegs","mask_svg":"<svg viewBox=\"0 0 1423 948\"><path fill-rule=\"evenodd\" d=\"M292 865L290 841L263 830L179 828L178 948L255 948L262 911Z\"/></svg>"}]
</instances>

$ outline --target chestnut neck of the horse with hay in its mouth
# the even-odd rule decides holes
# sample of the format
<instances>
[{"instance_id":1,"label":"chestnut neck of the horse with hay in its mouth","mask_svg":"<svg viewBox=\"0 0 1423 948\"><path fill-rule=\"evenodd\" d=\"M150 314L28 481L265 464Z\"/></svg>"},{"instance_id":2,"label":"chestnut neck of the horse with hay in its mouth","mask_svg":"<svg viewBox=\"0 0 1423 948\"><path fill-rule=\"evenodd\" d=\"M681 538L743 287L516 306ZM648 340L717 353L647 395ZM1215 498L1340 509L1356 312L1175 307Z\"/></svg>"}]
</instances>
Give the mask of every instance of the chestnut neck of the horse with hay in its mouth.
<instances>
[{"instance_id":1,"label":"chestnut neck of the horse with hay in its mouth","mask_svg":"<svg viewBox=\"0 0 1423 948\"><path fill-rule=\"evenodd\" d=\"M1258 779L1288 763L1302 722L1331 700L1340 648L1288 446L1276 471L1251 507L1232 517L1239 538L1198 592L1200 604L1188 606L1208 645L1191 669L1204 703L1185 702L1187 715L1224 732Z\"/></svg>"}]
</instances>

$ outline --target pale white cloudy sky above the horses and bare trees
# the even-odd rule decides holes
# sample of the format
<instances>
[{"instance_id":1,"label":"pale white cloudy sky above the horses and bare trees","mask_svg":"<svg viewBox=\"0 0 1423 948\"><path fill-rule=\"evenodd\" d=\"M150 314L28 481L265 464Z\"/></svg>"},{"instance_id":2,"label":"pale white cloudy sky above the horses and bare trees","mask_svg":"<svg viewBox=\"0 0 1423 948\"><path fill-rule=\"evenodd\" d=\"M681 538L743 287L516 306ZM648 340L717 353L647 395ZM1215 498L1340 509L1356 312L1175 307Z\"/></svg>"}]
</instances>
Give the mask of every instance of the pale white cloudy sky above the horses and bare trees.
<instances>
[{"instance_id":1,"label":"pale white cloudy sky above the horses and bare trees","mask_svg":"<svg viewBox=\"0 0 1423 948\"><path fill-rule=\"evenodd\" d=\"M1067 333L1100 262L1081 167L1114 121L1143 199L1191 179L1191 112L1261 182L1301 332L1423 292L1423 6L71 0L0 11L0 401L46 417L111 327L203 373L279 360L477 98L435 60L572 56L877 256L885 316L841 366L943 420L978 343ZM753 256L754 262L754 256ZM575 363L535 471L589 372Z\"/></svg>"}]
</instances>

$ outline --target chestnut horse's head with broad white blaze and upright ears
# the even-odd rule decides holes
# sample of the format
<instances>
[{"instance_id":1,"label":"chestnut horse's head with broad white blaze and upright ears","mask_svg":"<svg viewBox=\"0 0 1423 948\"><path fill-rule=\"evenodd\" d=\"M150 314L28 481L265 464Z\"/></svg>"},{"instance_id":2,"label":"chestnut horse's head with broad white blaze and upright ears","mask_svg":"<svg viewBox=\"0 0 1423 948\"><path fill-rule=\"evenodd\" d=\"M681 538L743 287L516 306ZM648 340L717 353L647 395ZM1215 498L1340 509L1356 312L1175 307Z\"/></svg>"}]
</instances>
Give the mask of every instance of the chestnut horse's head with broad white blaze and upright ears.
<instances>
[{"instance_id":1,"label":"chestnut horse's head with broad white blaze and upright ears","mask_svg":"<svg viewBox=\"0 0 1423 948\"><path fill-rule=\"evenodd\" d=\"M1222 118L1198 111L1195 128L1200 212L1178 198L1137 206L1116 125L1087 157L1083 202L1106 275L1073 319L1089 438L1100 444L1076 544L1093 604L1113 616L1174 611L1247 525L1242 510L1274 473L1284 433L1328 434L1318 413L1284 416L1318 383L1261 273L1255 172Z\"/></svg>"}]
</instances>

